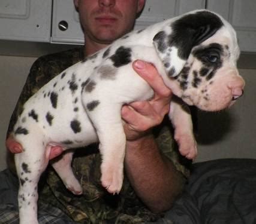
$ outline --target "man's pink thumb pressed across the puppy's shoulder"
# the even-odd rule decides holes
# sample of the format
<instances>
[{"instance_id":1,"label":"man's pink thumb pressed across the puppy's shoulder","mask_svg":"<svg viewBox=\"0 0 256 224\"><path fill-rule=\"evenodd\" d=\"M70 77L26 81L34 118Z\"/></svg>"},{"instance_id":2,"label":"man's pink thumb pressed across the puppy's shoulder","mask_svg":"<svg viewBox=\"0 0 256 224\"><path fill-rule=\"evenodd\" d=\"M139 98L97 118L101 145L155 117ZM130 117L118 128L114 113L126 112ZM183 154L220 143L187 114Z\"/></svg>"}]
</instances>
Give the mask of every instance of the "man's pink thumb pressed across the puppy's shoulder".
<instances>
[{"instance_id":1,"label":"man's pink thumb pressed across the puppy's shoulder","mask_svg":"<svg viewBox=\"0 0 256 224\"><path fill-rule=\"evenodd\" d=\"M166 87L155 66L141 60L135 60L133 68L138 75L152 87L155 94L158 94L161 97L168 97L171 95L171 90Z\"/></svg>"}]
</instances>

